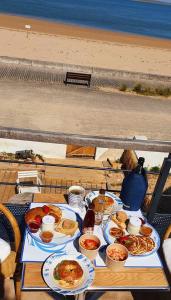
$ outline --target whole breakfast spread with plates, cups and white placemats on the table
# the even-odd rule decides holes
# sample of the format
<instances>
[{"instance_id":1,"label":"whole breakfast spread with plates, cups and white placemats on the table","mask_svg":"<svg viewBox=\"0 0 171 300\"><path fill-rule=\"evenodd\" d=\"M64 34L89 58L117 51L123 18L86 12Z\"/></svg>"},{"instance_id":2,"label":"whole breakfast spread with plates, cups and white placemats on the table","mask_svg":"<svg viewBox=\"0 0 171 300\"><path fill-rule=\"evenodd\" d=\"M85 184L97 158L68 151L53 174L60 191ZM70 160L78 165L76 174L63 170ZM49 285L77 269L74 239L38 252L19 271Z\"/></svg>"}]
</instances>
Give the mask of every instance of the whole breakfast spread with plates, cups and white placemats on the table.
<instances>
[{"instance_id":1,"label":"whole breakfast spread with plates, cups and white placemats on the table","mask_svg":"<svg viewBox=\"0 0 171 300\"><path fill-rule=\"evenodd\" d=\"M59 294L83 293L98 268L115 274L126 268L162 267L158 233L140 209L124 210L114 193L86 194L73 186L68 204L33 202L25 221L21 262L42 263L44 282Z\"/></svg>"}]
</instances>

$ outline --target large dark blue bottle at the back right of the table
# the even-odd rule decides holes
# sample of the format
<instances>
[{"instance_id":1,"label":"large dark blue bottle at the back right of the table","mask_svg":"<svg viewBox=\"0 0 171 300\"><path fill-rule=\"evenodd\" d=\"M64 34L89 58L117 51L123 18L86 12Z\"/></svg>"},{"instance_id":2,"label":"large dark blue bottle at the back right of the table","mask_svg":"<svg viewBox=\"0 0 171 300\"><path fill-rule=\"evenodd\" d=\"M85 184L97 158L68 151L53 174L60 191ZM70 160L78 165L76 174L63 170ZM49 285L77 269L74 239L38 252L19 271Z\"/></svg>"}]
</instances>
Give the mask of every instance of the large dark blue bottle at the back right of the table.
<instances>
[{"instance_id":1,"label":"large dark blue bottle at the back right of the table","mask_svg":"<svg viewBox=\"0 0 171 300\"><path fill-rule=\"evenodd\" d=\"M144 158L138 159L138 164L123 180L120 198L123 208L137 211L141 208L148 188L146 171L143 168Z\"/></svg>"}]
</instances>

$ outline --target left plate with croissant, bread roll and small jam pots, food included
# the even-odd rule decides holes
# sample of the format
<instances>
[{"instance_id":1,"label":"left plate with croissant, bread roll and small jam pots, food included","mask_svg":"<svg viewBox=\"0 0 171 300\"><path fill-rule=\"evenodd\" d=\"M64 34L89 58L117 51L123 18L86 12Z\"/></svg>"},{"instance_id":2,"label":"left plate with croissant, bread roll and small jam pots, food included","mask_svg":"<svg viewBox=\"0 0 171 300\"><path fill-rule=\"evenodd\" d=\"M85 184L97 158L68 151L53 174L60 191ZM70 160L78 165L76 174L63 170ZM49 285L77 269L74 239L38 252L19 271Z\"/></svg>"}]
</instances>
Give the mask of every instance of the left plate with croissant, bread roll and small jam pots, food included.
<instances>
[{"instance_id":1,"label":"left plate with croissant, bread roll and small jam pots, food included","mask_svg":"<svg viewBox=\"0 0 171 300\"><path fill-rule=\"evenodd\" d=\"M33 207L26 212L25 222L31 237L47 248L71 242L81 234L81 218L62 204Z\"/></svg>"}]
</instances>

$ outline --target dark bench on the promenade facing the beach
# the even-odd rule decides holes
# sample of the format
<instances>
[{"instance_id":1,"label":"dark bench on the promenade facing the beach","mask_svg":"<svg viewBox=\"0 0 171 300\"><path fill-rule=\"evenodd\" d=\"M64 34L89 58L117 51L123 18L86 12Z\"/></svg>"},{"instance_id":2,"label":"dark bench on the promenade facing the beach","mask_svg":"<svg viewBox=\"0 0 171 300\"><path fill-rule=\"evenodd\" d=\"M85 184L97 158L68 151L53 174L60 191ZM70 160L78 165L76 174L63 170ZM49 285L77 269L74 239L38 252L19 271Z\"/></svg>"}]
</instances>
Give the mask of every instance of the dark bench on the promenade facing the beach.
<instances>
[{"instance_id":1,"label":"dark bench on the promenade facing the beach","mask_svg":"<svg viewBox=\"0 0 171 300\"><path fill-rule=\"evenodd\" d=\"M67 72L65 84L80 84L90 87L91 74Z\"/></svg>"}]
</instances>

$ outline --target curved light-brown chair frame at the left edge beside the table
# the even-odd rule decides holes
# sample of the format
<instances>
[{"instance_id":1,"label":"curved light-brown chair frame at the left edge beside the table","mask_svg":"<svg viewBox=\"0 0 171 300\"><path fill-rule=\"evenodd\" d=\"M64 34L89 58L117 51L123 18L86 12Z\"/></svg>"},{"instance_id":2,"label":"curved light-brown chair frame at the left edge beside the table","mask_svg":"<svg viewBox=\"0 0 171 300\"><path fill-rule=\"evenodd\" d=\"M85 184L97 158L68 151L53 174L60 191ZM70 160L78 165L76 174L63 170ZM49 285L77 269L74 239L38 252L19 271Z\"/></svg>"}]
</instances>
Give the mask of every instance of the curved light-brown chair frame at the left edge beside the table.
<instances>
[{"instance_id":1,"label":"curved light-brown chair frame at the left edge beside the table","mask_svg":"<svg viewBox=\"0 0 171 300\"><path fill-rule=\"evenodd\" d=\"M4 294L5 299L19 299L20 291L14 288L14 273L17 265L17 254L21 241L21 234L18 223L10 212L10 210L0 203L0 213L10 225L10 229L13 232L14 242L11 244L11 252L8 257L0 263L1 278L4 282Z\"/></svg>"}]
</instances>

